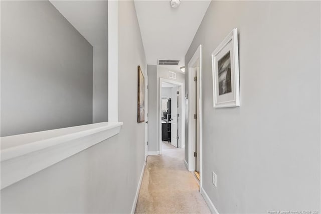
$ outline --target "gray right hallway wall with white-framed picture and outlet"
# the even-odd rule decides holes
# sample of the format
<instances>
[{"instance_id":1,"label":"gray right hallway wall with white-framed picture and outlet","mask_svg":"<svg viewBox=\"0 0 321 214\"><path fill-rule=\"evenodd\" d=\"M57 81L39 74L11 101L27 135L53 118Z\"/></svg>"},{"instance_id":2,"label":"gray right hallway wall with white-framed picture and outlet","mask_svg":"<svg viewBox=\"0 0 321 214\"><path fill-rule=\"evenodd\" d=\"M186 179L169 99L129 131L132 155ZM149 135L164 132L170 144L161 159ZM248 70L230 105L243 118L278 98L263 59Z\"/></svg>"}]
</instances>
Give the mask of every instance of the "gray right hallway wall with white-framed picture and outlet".
<instances>
[{"instance_id":1,"label":"gray right hallway wall with white-framed picture and outlet","mask_svg":"<svg viewBox=\"0 0 321 214\"><path fill-rule=\"evenodd\" d=\"M211 53L233 28L241 106L214 109ZM209 6L185 62L202 44L202 181L220 213L320 211L320 36L320 2Z\"/></svg>"}]
</instances>

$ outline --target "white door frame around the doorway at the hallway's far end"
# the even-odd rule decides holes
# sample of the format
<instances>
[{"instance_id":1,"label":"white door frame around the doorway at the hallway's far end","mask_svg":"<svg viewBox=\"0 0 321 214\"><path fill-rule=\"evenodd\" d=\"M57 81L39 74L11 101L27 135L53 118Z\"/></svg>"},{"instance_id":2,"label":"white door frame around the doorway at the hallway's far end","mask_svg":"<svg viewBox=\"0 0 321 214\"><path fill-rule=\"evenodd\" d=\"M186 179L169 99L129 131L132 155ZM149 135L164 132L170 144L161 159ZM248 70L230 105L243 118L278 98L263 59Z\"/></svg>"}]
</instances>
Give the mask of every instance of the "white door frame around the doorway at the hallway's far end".
<instances>
[{"instance_id":1,"label":"white door frame around the doorway at the hallway's far end","mask_svg":"<svg viewBox=\"0 0 321 214\"><path fill-rule=\"evenodd\" d=\"M159 77L159 90L158 90L159 94L158 94L157 120L156 120L157 124L158 124L158 151L159 151L159 154L162 154L162 125L161 125L161 123L162 123L162 121L161 121L162 120L162 110L161 110L161 103L162 103L162 83L163 82L167 82L167 83L181 86L181 89L180 89L181 96L183 96L184 91L185 91L184 82L177 82L177 81L174 81L171 79L165 79L165 78ZM180 136L181 145L182 145L182 142L185 142L185 108L184 108L184 106L185 106L185 100L181 97L182 115L180 115L180 118L181 118L180 122L181 123L179 124L179 129L181 128L181 133L182 133L182 136Z\"/></svg>"}]
</instances>

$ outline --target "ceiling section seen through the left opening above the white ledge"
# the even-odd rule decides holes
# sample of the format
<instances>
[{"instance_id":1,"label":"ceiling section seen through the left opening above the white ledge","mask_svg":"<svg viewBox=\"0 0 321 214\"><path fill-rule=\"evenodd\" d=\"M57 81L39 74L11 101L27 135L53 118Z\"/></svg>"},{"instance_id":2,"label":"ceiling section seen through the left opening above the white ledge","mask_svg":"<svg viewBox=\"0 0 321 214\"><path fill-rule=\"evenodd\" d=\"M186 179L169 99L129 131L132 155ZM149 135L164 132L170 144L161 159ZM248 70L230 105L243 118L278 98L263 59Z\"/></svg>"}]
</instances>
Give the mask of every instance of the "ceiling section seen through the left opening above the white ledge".
<instances>
[{"instance_id":1,"label":"ceiling section seen through the left opening above the white ledge","mask_svg":"<svg viewBox=\"0 0 321 214\"><path fill-rule=\"evenodd\" d=\"M107 1L50 2L93 47L107 47Z\"/></svg>"}]
</instances>

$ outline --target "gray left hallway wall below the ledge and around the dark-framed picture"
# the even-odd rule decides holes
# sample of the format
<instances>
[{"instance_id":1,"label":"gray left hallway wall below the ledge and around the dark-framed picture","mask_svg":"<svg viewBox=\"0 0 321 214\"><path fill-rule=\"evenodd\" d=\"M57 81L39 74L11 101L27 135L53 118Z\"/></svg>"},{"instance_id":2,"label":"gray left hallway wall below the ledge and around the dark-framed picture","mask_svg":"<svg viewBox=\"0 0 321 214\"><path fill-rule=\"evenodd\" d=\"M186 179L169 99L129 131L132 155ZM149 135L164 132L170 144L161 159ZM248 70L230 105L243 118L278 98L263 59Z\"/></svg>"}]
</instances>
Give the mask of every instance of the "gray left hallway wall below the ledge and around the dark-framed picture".
<instances>
[{"instance_id":1,"label":"gray left hallway wall below the ledge and around the dark-framed picture","mask_svg":"<svg viewBox=\"0 0 321 214\"><path fill-rule=\"evenodd\" d=\"M130 212L144 164L144 123L137 124L135 106L145 54L134 3L118 4L120 133L3 189L2 213Z\"/></svg>"}]
</instances>

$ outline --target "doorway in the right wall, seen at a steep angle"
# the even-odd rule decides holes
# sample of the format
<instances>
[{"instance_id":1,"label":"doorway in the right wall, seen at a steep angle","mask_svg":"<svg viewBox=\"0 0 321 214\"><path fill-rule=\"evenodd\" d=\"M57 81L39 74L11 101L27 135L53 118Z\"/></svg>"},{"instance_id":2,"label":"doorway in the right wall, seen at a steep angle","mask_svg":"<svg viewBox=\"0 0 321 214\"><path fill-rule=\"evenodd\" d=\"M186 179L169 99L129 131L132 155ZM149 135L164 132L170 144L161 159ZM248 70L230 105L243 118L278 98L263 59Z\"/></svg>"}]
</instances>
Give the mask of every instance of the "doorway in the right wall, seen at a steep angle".
<instances>
[{"instance_id":1,"label":"doorway in the right wall, seen at a steep angle","mask_svg":"<svg viewBox=\"0 0 321 214\"><path fill-rule=\"evenodd\" d=\"M188 170L195 173L202 191L202 46L188 63Z\"/></svg>"}]
</instances>

